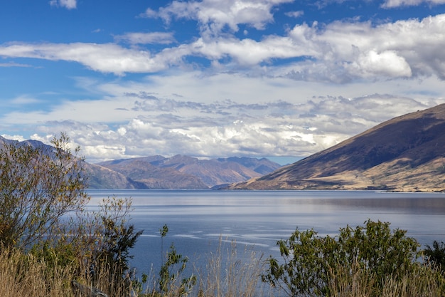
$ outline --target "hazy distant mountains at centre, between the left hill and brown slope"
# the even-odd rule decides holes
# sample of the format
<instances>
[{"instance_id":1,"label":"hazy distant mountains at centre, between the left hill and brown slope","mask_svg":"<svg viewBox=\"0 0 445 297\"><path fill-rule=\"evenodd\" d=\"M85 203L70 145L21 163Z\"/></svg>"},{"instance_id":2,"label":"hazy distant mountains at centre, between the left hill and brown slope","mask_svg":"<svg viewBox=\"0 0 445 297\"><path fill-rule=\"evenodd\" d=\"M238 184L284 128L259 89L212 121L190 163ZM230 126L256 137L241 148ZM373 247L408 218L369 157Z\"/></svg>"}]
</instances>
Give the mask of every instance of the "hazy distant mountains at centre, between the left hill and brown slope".
<instances>
[{"instance_id":1,"label":"hazy distant mountains at centre, between the left hill and brown slope","mask_svg":"<svg viewBox=\"0 0 445 297\"><path fill-rule=\"evenodd\" d=\"M124 174L150 189L206 189L259 177L280 167L265 158L200 160L183 155L113 160L97 165Z\"/></svg>"}]
</instances>

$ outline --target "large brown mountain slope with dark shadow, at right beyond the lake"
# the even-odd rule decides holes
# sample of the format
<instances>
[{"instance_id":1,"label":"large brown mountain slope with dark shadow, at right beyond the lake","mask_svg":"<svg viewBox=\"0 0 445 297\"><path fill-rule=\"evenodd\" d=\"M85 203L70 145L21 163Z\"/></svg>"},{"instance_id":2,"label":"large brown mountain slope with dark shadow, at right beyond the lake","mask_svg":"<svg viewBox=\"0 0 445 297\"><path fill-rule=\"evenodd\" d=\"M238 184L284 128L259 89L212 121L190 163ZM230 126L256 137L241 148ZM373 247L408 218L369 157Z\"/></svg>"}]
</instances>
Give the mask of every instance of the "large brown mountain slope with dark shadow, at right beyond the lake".
<instances>
[{"instance_id":1,"label":"large brown mountain slope with dark shadow, at right beyond the lake","mask_svg":"<svg viewBox=\"0 0 445 297\"><path fill-rule=\"evenodd\" d=\"M445 104L388 120L231 189L444 191Z\"/></svg>"}]
</instances>

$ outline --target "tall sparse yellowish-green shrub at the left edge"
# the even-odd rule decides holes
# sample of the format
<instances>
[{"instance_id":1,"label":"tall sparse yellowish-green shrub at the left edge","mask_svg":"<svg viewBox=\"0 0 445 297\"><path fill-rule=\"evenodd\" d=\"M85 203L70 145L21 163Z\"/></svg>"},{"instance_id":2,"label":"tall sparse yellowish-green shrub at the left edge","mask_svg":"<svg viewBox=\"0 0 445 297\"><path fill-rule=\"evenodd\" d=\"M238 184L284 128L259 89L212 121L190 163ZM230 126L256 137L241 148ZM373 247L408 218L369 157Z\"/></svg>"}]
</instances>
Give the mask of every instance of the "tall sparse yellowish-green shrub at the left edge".
<instances>
[{"instance_id":1,"label":"tall sparse yellowish-green shrub at the left edge","mask_svg":"<svg viewBox=\"0 0 445 297\"><path fill-rule=\"evenodd\" d=\"M0 242L5 246L23 248L59 236L60 218L89 200L80 149L71 153L65 133L51 144L6 142L0 148Z\"/></svg>"}]
</instances>

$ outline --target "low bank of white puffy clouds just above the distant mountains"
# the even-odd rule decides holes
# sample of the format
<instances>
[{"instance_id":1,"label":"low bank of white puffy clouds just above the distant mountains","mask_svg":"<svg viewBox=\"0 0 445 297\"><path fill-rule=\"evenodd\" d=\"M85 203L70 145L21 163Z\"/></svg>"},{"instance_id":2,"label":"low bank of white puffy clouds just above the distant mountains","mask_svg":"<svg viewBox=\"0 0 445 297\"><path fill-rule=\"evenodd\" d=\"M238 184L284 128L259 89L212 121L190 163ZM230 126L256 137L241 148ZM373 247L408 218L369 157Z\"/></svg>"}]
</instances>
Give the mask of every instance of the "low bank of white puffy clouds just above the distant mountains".
<instances>
[{"instance_id":1,"label":"low bank of white puffy clouds just above the distant mountains","mask_svg":"<svg viewBox=\"0 0 445 297\"><path fill-rule=\"evenodd\" d=\"M426 107L409 98L381 95L353 100L324 98L301 105L214 103L202 105L203 110L214 110L208 116L187 116L183 108L164 115L134 118L115 131L71 132L82 147L90 147L90 152L95 147L92 144L100 146L100 155L87 156L95 160L116 158L117 151L122 153L120 157L306 156L366 130L380 119ZM220 111L224 114L219 115ZM125 144L124 149L116 150L119 144ZM104 147L109 147L109 152Z\"/></svg>"}]
</instances>

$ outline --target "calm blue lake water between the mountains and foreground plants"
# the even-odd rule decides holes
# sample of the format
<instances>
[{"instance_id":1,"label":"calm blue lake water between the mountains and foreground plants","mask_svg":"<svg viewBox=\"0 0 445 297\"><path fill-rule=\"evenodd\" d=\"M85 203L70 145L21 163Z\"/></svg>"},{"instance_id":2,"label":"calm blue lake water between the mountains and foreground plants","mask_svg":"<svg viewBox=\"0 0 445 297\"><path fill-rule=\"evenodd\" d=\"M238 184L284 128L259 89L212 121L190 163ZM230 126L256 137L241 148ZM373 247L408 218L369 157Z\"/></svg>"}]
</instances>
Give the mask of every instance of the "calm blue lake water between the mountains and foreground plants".
<instances>
[{"instance_id":1,"label":"calm blue lake water between the mountains and foreground plants","mask_svg":"<svg viewBox=\"0 0 445 297\"><path fill-rule=\"evenodd\" d=\"M346 225L372 219L407 230L420 244L445 241L445 194L361 191L220 191L98 190L88 191L94 207L102 198L132 197L132 224L144 230L132 250L132 266L156 271L161 262L159 229L168 225L163 249L174 243L191 261L218 249L253 249L279 258L276 243L296 227L336 235ZM240 249L240 248L243 249ZM240 254L240 252L238 252Z\"/></svg>"}]
</instances>

